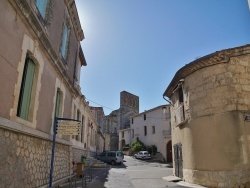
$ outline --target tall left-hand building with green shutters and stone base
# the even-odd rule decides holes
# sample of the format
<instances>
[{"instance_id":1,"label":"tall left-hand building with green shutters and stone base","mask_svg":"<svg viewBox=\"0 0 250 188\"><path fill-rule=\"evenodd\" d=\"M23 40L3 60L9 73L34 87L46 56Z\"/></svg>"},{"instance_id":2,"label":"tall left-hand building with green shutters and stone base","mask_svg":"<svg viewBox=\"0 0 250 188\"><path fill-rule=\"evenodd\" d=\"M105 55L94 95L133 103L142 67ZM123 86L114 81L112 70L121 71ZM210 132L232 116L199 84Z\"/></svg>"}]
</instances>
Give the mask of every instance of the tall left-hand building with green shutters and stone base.
<instances>
[{"instance_id":1,"label":"tall left-hand building with green shutters and stone base","mask_svg":"<svg viewBox=\"0 0 250 188\"><path fill-rule=\"evenodd\" d=\"M54 182L95 152L79 86L84 34L74 0L0 1L0 12L0 187L47 187L55 117L80 120L81 131L56 136Z\"/></svg>"}]
</instances>

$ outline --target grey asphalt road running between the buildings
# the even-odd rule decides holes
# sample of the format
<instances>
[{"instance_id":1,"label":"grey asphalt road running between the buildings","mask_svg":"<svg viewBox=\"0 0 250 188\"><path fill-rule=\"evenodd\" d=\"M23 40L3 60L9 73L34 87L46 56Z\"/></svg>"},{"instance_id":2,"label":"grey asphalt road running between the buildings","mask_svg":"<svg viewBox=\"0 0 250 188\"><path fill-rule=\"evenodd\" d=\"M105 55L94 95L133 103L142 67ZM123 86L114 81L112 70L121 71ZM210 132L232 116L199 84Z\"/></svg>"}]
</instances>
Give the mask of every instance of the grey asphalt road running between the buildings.
<instances>
[{"instance_id":1,"label":"grey asphalt road running between the buildings","mask_svg":"<svg viewBox=\"0 0 250 188\"><path fill-rule=\"evenodd\" d=\"M184 182L168 182L163 177L173 174L168 164L125 156L121 165L92 169L92 181L87 188L185 188L199 187ZM78 183L77 188L81 188Z\"/></svg>"}]
</instances>

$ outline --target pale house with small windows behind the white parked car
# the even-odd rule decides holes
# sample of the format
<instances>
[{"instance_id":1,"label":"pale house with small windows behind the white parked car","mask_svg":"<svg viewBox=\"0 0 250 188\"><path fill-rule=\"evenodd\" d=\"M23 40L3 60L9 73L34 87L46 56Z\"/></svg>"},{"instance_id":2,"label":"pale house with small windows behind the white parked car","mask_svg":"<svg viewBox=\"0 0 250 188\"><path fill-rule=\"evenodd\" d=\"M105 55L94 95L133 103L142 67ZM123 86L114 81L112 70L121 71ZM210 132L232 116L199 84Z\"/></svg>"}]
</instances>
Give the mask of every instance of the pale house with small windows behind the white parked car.
<instances>
[{"instance_id":1,"label":"pale house with small windows behind the white parked car","mask_svg":"<svg viewBox=\"0 0 250 188\"><path fill-rule=\"evenodd\" d=\"M119 140L121 145L127 144L125 133L122 133L124 137ZM155 145L164 159L167 162L172 162L169 105L158 106L132 116L129 135L131 137L130 144L139 139L146 146Z\"/></svg>"}]
</instances>

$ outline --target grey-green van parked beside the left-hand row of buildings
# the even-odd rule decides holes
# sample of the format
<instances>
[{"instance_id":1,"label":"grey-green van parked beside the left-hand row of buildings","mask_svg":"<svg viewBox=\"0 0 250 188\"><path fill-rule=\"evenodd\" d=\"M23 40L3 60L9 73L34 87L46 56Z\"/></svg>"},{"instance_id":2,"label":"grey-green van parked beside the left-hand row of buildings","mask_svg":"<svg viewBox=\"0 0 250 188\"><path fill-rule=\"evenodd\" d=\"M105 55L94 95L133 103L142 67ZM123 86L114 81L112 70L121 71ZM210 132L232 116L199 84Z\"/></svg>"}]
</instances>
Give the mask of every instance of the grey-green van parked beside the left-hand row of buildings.
<instances>
[{"instance_id":1,"label":"grey-green van parked beside the left-hand row of buildings","mask_svg":"<svg viewBox=\"0 0 250 188\"><path fill-rule=\"evenodd\" d=\"M97 155L96 158L105 163L115 165L123 162L124 155L121 151L104 151Z\"/></svg>"}]
</instances>

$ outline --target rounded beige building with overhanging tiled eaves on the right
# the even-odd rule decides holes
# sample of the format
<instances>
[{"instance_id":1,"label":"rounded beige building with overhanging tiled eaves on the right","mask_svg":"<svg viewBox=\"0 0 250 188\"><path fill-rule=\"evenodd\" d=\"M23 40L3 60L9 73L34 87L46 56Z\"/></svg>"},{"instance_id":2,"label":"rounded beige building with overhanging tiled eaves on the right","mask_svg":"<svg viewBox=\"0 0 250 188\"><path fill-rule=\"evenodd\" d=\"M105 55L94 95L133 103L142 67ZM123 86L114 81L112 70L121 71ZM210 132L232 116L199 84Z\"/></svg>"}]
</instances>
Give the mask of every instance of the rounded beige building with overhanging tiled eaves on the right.
<instances>
[{"instance_id":1,"label":"rounded beige building with overhanging tiled eaves on the right","mask_svg":"<svg viewBox=\"0 0 250 188\"><path fill-rule=\"evenodd\" d=\"M207 187L250 186L249 85L249 45L177 71L163 94L171 102L176 176Z\"/></svg>"}]
</instances>

